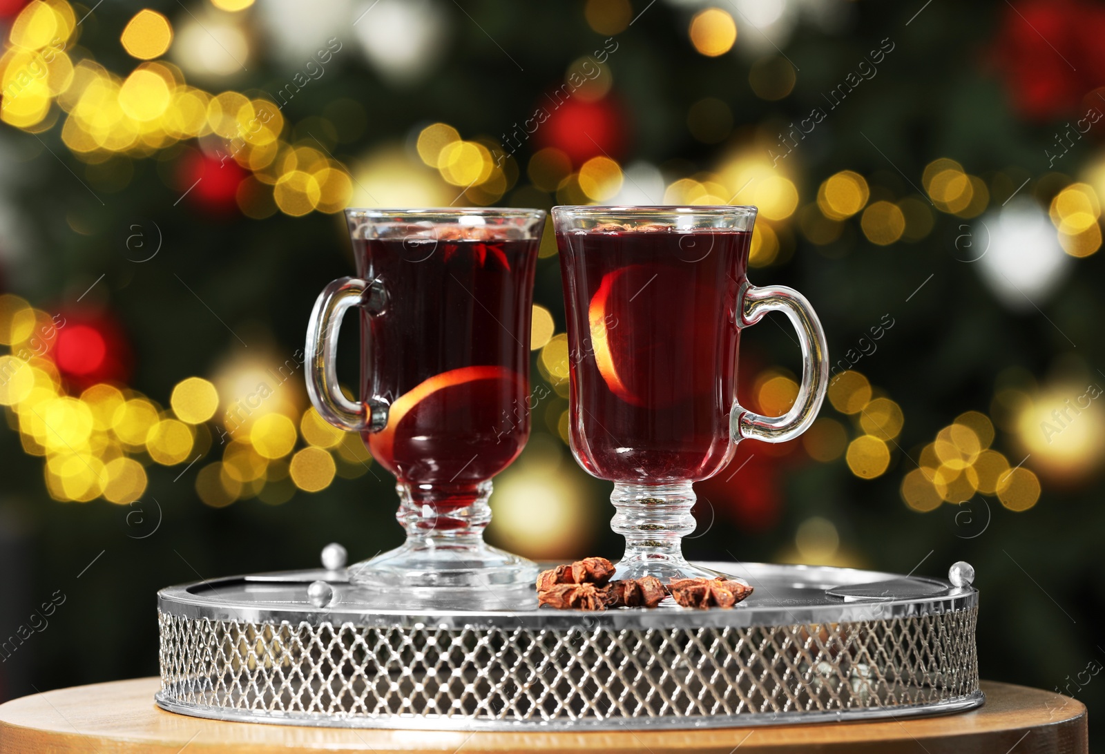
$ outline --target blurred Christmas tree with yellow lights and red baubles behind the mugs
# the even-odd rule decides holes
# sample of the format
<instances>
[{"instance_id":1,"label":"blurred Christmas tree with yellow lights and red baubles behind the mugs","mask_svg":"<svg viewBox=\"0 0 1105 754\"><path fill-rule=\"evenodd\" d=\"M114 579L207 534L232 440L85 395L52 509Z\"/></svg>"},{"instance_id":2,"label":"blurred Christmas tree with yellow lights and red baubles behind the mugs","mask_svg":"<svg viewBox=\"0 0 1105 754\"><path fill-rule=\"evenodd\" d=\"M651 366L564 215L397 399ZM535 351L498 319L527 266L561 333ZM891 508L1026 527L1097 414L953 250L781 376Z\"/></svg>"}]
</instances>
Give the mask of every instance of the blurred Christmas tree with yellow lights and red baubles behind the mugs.
<instances>
[{"instance_id":1,"label":"blurred Christmas tree with yellow lights and red baubles behind the mugs","mask_svg":"<svg viewBox=\"0 0 1105 754\"><path fill-rule=\"evenodd\" d=\"M17 604L69 595L0 693L151 673L166 584L400 541L390 478L306 410L344 207L625 202L757 205L754 281L830 338L831 405L701 485L690 555L967 559L983 676L1101 698L1067 688L1105 661L1101 7L7 0L0 27L0 533ZM550 394L492 528L617 555L541 253ZM799 362L768 329L741 398L776 413Z\"/></svg>"}]
</instances>

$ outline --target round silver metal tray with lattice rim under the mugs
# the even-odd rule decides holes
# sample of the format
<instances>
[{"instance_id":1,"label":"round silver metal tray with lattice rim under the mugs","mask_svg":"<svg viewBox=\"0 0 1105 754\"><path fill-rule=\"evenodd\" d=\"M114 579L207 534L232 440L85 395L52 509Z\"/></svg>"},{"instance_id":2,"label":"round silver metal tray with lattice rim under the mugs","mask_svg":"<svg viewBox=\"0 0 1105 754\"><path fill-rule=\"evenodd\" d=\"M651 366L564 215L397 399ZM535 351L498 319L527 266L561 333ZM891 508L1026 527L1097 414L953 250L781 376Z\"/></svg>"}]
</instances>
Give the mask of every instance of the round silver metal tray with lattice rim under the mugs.
<instances>
[{"instance_id":1,"label":"round silver metal tray with lattice rim under the mugs","mask_svg":"<svg viewBox=\"0 0 1105 754\"><path fill-rule=\"evenodd\" d=\"M901 718L983 701L969 585L702 565L756 590L732 610L583 612L403 608L322 569L169 587L158 594L157 703L297 725L601 730ZM333 590L324 607L308 599L319 580Z\"/></svg>"}]
</instances>

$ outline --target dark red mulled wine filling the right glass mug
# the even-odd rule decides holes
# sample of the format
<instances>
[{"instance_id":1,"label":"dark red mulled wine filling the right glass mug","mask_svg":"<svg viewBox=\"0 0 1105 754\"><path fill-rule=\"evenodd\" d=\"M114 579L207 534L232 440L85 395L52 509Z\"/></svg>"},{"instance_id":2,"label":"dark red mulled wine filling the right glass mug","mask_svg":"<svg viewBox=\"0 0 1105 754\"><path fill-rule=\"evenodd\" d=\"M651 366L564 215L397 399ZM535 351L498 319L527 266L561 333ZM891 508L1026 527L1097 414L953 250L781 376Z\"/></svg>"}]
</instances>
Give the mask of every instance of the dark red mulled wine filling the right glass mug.
<instances>
[{"instance_id":1,"label":"dark red mulled wine filling the right glass mug","mask_svg":"<svg viewBox=\"0 0 1105 754\"><path fill-rule=\"evenodd\" d=\"M557 233L571 447L591 474L670 483L728 463L735 306L750 239L728 230Z\"/></svg>"}]
</instances>

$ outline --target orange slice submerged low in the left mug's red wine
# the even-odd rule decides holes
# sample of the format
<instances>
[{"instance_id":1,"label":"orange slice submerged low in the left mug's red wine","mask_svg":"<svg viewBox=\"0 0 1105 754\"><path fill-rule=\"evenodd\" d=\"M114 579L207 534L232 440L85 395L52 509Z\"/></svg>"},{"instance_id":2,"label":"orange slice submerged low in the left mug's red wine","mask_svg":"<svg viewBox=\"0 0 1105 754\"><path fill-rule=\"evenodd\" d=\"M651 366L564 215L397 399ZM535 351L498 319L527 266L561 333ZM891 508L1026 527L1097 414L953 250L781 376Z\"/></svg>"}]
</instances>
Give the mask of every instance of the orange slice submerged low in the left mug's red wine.
<instances>
[{"instance_id":1,"label":"orange slice submerged low in the left mug's red wine","mask_svg":"<svg viewBox=\"0 0 1105 754\"><path fill-rule=\"evenodd\" d=\"M526 385L522 375L506 367L471 366L450 369L420 383L397 398L388 409L387 426L368 436L369 447L385 465L391 467L394 463L397 433L400 437L410 433L407 430L399 431L404 419L408 425L413 423L424 429L427 425L439 423L436 419L443 423L444 412L450 405L480 402L481 406L471 407L469 411L471 419L478 426L470 427L467 431L488 431L493 422L502 421L499 415L503 408L525 395Z\"/></svg>"}]
</instances>

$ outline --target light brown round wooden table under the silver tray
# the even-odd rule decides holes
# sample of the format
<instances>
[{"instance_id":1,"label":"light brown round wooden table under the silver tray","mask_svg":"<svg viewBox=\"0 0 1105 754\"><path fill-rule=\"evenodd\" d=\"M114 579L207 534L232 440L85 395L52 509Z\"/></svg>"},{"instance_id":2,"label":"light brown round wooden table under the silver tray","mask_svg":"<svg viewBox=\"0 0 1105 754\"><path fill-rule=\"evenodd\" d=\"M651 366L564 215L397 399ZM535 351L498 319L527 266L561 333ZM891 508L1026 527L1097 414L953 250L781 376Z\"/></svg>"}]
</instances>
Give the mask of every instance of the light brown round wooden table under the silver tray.
<instances>
[{"instance_id":1,"label":"light brown round wooden table under the silver tray","mask_svg":"<svg viewBox=\"0 0 1105 754\"><path fill-rule=\"evenodd\" d=\"M1086 708L1050 691L982 683L980 710L941 718L699 731L451 733L227 723L164 712L158 679L96 683L0 705L0 752L717 752L790 754L903 752L1084 754Z\"/></svg>"}]
</instances>

